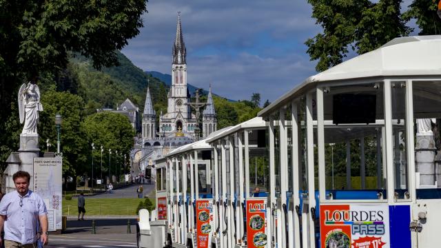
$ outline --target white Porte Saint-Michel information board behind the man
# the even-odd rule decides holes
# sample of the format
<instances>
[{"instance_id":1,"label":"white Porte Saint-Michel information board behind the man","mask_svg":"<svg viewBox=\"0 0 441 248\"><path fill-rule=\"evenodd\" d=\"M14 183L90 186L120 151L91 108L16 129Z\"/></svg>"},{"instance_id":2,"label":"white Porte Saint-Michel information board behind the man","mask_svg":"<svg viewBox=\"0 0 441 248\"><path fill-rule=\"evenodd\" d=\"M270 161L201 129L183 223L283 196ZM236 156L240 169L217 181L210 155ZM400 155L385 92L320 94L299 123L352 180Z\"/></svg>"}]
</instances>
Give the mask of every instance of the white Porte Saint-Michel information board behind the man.
<instances>
[{"instance_id":1,"label":"white Porte Saint-Michel information board behind the man","mask_svg":"<svg viewBox=\"0 0 441 248\"><path fill-rule=\"evenodd\" d=\"M61 229L62 158L34 158L34 192L48 209L49 231Z\"/></svg>"}]
</instances>

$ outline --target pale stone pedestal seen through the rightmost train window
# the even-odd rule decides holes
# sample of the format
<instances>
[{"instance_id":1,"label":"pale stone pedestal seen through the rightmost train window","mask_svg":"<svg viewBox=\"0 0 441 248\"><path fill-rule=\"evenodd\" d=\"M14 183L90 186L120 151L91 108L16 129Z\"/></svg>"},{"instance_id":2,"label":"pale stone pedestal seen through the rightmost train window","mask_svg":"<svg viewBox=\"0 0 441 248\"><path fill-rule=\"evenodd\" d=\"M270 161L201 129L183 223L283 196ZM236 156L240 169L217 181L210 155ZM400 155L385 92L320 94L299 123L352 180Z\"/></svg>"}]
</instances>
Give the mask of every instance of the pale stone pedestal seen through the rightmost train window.
<instances>
[{"instance_id":1,"label":"pale stone pedestal seen through the rightmost train window","mask_svg":"<svg viewBox=\"0 0 441 248\"><path fill-rule=\"evenodd\" d=\"M415 152L416 172L420 173L420 185L435 185L436 147L432 132L416 135Z\"/></svg>"}]
</instances>

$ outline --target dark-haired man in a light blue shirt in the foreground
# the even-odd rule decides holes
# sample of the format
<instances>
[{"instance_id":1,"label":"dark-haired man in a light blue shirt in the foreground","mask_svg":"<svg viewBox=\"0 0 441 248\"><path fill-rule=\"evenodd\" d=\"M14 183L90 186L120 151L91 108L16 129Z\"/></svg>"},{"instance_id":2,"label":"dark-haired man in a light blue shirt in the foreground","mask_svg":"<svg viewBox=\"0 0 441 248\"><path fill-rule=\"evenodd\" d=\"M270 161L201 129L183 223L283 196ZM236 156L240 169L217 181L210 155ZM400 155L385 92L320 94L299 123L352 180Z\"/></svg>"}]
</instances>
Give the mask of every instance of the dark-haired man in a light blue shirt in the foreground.
<instances>
[{"instance_id":1,"label":"dark-haired man in a light blue shirt in the foreground","mask_svg":"<svg viewBox=\"0 0 441 248\"><path fill-rule=\"evenodd\" d=\"M29 189L30 174L19 171L12 180L16 190L3 196L0 203L0 231L5 231L5 247L37 247L39 239L47 244L48 210L41 196Z\"/></svg>"}]
</instances>

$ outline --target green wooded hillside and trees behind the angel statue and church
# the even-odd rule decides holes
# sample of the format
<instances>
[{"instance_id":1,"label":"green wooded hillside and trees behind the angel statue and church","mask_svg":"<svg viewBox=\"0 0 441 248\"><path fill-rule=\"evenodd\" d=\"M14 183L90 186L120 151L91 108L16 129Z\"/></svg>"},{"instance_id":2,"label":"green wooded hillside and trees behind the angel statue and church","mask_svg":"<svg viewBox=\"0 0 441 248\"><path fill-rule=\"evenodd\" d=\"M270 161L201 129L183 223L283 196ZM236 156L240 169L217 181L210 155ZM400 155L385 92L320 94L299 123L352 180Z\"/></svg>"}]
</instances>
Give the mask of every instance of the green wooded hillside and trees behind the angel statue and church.
<instances>
[{"instance_id":1,"label":"green wooded hillside and trees behind the angel statue and church","mask_svg":"<svg viewBox=\"0 0 441 248\"><path fill-rule=\"evenodd\" d=\"M103 145L106 149L118 149L120 154L128 154L132 144L130 141L121 141L125 137L117 136L121 133L130 133L125 123L125 116L96 114L96 109L103 107L115 108L125 99L130 99L134 104L139 105L140 112L143 112L147 85L150 87L150 94L154 109L159 118L159 113L167 112L167 92L169 87L159 79L146 74L136 68L132 62L123 54L118 52L119 66L103 68L98 71L92 67L90 59L83 56L74 56L70 59L67 68L61 70L57 75L40 75L39 87L41 90L41 102L44 111L41 112L39 124L40 149L45 151L45 141L52 143L50 151L54 152L57 140L53 118L60 113L63 116L61 125L61 147L65 154L63 174L76 176L88 172L92 157L90 145L95 143L96 147ZM253 94L253 96L256 94ZM203 94L201 101L206 101L207 96ZM194 101L194 97L192 97ZM256 116L260 110L258 107L260 96L252 101L232 102L219 96L214 96L214 105L218 114L218 128L236 125L242 121ZM12 114L5 120L5 132L11 134L0 143L1 166L6 166L6 158L10 152L14 152L19 146L19 134L22 125L19 123L17 102L11 104ZM121 130L110 134L97 134L96 125L91 125L87 120L105 120L103 123L114 123L115 130ZM126 120L128 123L128 120ZM92 128L93 127L93 128ZM104 124L101 130L105 131ZM130 127L129 127L130 128ZM118 133L118 134L117 134ZM101 138L96 138L101 135ZM99 140L99 142L98 142ZM95 150L97 152L98 149ZM95 154L96 155L96 154ZM82 166L79 166L82 165ZM1 168L0 168L1 169Z\"/></svg>"}]
</instances>

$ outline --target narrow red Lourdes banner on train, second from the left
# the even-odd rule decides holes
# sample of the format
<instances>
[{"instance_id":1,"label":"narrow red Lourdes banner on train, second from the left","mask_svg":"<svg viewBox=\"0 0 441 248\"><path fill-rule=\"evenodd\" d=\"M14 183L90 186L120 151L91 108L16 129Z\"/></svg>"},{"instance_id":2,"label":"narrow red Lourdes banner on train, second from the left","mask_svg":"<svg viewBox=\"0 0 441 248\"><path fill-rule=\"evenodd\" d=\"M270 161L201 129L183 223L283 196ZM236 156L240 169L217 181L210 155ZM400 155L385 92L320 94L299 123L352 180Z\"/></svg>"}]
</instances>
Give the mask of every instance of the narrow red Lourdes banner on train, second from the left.
<instances>
[{"instance_id":1,"label":"narrow red Lourdes banner on train, second from the left","mask_svg":"<svg viewBox=\"0 0 441 248\"><path fill-rule=\"evenodd\" d=\"M196 200L196 227L198 248L208 248L212 242L213 199Z\"/></svg>"}]
</instances>

